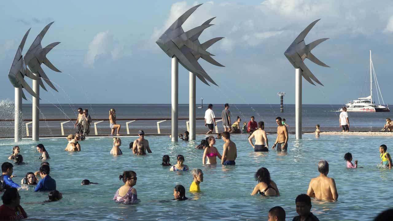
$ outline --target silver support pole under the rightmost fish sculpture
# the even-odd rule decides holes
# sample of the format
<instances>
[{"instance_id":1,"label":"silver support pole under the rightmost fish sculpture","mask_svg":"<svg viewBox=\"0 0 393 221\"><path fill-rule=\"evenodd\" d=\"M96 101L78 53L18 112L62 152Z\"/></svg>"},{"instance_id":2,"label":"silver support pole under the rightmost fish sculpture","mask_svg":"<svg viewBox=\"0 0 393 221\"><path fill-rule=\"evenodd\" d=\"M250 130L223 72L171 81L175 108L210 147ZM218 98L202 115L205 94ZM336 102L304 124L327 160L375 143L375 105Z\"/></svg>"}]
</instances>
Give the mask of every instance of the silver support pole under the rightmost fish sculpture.
<instances>
[{"instance_id":1,"label":"silver support pole under the rightmost fish sculpture","mask_svg":"<svg viewBox=\"0 0 393 221\"><path fill-rule=\"evenodd\" d=\"M296 140L301 140L301 69L295 71L295 127Z\"/></svg>"}]
</instances>

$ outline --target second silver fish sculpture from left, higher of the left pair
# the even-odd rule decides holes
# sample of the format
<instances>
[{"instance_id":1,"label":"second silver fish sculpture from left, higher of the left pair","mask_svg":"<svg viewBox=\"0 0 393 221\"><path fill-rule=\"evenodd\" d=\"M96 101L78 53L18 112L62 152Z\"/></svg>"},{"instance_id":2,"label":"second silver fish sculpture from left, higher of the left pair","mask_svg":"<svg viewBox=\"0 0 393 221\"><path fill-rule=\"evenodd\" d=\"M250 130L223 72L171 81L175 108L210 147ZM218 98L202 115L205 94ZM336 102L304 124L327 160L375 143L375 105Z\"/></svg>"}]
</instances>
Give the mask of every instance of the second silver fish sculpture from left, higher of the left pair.
<instances>
[{"instance_id":1,"label":"second silver fish sculpture from left, higher of the left pair","mask_svg":"<svg viewBox=\"0 0 393 221\"><path fill-rule=\"evenodd\" d=\"M45 26L44 29L39 33L39 35L35 38L33 44L31 44L29 50L26 52L26 55L24 56L24 59L29 66L31 72L38 74L40 77L38 79L40 86L46 90L44 83L42 82L41 78L44 79L44 81L51 87L53 90L58 91L56 87L52 84L52 82L48 79L48 76L46 76L44 70L41 68L41 64L44 63L48 68L54 70L55 72L61 72L59 69L57 69L53 64L46 58L46 54L52 50L53 47L56 45L60 44L60 42L54 42L46 46L45 48L42 48L41 41L44 38L44 35L48 31L49 27L53 24L53 22L49 23L47 26Z\"/></svg>"}]
</instances>

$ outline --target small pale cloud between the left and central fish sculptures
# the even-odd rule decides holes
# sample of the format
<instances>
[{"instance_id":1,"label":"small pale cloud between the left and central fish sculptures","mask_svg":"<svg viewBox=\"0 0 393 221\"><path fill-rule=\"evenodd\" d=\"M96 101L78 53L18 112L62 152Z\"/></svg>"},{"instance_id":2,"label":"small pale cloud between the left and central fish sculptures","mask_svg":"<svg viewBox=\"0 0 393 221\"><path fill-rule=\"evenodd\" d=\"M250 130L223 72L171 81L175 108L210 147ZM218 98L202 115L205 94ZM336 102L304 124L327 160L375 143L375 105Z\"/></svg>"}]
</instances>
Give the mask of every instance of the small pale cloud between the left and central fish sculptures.
<instances>
[{"instance_id":1,"label":"small pale cloud between the left and central fish sculptures","mask_svg":"<svg viewBox=\"0 0 393 221\"><path fill-rule=\"evenodd\" d=\"M99 32L90 42L84 57L84 63L93 66L96 61L108 62L117 60L123 55L123 46L116 41L109 31Z\"/></svg>"}]
</instances>

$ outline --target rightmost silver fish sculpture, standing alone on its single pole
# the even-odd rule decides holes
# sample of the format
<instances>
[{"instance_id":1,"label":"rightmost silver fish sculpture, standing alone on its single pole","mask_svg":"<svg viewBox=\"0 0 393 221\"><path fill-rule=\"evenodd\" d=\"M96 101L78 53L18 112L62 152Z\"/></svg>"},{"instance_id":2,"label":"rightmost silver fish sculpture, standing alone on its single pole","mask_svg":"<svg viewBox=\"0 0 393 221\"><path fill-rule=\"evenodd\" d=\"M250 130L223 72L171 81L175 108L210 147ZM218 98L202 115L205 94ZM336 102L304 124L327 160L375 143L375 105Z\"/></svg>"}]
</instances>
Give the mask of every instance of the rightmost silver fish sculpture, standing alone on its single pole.
<instances>
[{"instance_id":1,"label":"rightmost silver fish sculpture, standing alone on its single pole","mask_svg":"<svg viewBox=\"0 0 393 221\"><path fill-rule=\"evenodd\" d=\"M311 42L310 44L305 44L304 38L306 35L309 33L312 27L319 21L315 20L307 28L305 28L299 36L295 39L295 41L292 42L292 44L288 47L288 49L285 51L284 55L285 57L289 60L289 62L295 67L295 68L300 68L302 71L302 76L304 79L306 79L308 82L310 82L312 85L315 85L313 81L316 83L320 84L323 86L323 84L314 76L314 74L311 73L309 68L305 65L303 62L306 58L308 58L310 61L324 67L328 67L325 63L320 61L318 58L316 58L312 53L311 50L315 48L318 44L321 42L326 41L329 38L323 38L323 39L318 39L316 41Z\"/></svg>"}]
</instances>

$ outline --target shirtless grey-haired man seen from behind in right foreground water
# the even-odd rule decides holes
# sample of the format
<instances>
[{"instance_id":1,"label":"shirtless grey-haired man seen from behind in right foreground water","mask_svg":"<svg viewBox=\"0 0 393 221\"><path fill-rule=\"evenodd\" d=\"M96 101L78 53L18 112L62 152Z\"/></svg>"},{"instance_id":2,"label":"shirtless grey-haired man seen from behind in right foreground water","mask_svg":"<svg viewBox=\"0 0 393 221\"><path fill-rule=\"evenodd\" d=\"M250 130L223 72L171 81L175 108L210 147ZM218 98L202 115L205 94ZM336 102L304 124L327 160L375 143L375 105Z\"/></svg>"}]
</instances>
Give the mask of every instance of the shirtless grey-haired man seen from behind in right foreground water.
<instances>
[{"instance_id":1,"label":"shirtless grey-haired man seen from behind in right foreground water","mask_svg":"<svg viewBox=\"0 0 393 221\"><path fill-rule=\"evenodd\" d=\"M336 182L333 178L327 177L329 164L326 160L318 162L318 171L320 175L311 179L307 195L323 200L337 200Z\"/></svg>"}]
</instances>

